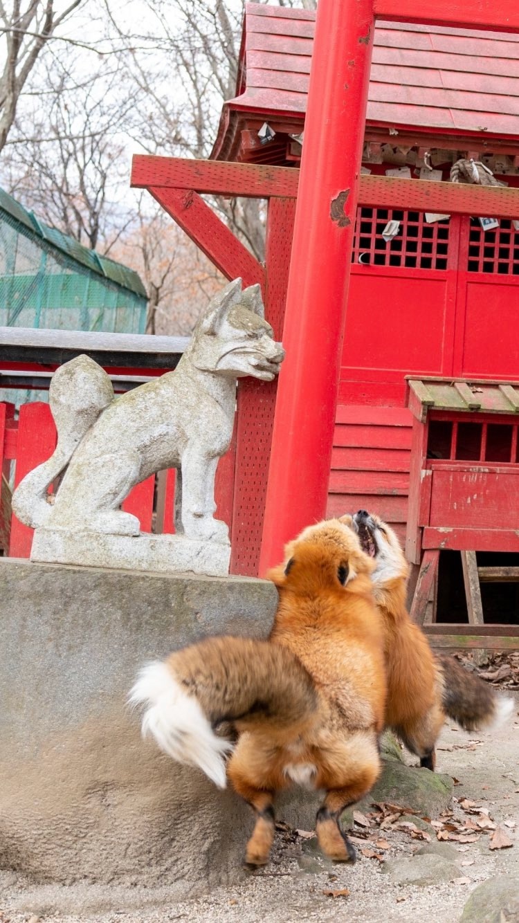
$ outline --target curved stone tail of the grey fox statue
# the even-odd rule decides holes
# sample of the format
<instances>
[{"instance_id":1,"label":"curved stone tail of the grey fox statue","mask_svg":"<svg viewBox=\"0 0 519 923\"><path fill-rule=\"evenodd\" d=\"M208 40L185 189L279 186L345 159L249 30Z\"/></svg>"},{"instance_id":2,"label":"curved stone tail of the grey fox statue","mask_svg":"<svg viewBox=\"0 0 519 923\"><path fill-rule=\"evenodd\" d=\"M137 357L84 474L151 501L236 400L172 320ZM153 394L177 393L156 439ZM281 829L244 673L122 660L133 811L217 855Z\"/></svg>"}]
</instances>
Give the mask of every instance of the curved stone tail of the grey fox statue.
<instances>
[{"instance_id":1,"label":"curved stone tail of the grey fox statue","mask_svg":"<svg viewBox=\"0 0 519 923\"><path fill-rule=\"evenodd\" d=\"M88 355L78 355L54 372L49 403L57 445L50 459L27 474L13 494L13 512L20 522L33 529L44 525L51 511L49 485L66 468L81 439L113 400L110 378Z\"/></svg>"}]
</instances>

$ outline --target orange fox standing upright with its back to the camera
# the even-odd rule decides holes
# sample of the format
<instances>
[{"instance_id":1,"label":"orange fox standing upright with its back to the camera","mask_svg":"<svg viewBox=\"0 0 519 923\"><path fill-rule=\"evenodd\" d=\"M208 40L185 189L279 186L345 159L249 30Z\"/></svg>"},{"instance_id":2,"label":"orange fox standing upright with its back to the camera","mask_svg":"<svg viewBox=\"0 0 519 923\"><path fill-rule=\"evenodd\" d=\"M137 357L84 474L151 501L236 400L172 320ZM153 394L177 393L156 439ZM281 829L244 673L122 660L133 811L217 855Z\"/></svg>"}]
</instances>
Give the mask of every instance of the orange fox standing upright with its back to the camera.
<instances>
[{"instance_id":1,"label":"orange fox standing upright with its back to the camera","mask_svg":"<svg viewBox=\"0 0 519 923\"><path fill-rule=\"evenodd\" d=\"M150 732L174 760L229 778L255 810L247 863L264 865L274 795L293 783L323 788L316 832L337 861L355 861L340 826L344 808L380 773L386 681L374 567L339 521L310 526L272 569L279 605L270 638L215 637L145 666L131 692ZM215 733L231 723L233 744ZM225 756L231 754L225 765Z\"/></svg>"}]
</instances>

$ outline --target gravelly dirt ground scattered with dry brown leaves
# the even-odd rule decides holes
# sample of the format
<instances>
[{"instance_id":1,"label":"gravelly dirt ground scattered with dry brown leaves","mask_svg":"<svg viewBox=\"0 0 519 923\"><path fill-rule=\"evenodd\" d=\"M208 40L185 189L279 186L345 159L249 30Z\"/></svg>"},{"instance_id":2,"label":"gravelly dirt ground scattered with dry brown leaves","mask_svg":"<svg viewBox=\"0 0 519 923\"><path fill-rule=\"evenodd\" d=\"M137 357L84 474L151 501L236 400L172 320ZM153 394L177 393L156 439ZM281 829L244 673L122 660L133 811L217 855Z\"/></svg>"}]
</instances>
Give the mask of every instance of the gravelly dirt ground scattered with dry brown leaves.
<instances>
[{"instance_id":1,"label":"gravelly dirt ground scattered with dry brown leaves","mask_svg":"<svg viewBox=\"0 0 519 923\"><path fill-rule=\"evenodd\" d=\"M435 827L422 822L420 833L399 826L403 821L413 824L412 816L394 819L393 815L391 820L391 809L384 809L384 814L373 809L373 816L368 812L367 818L361 815L364 820L354 832L359 852L355 866L322 859L309 832L301 835L281 824L267 869L243 872L234 886L193 894L182 903L173 901L167 887L33 886L12 872L0 872L0 923L37 923L38 919L48 923L325 923L352 919L422 923L431 916L435 923L454 923L469 894L482 881L498 875L519 879L519 692L506 692L516 704L507 726L491 735L469 735L445 725L441 734L438 771L459 783L453 789L453 816L432 818ZM380 830L384 816L389 821ZM417 868L424 861L418 850L438 848L440 842L449 857L426 860L435 869L436 864L441 866L429 869L438 881L427 885L392 881L388 868L394 871L396 867L396 874L412 864ZM490 849L492 843L501 847ZM370 857L370 853L376 855ZM345 890L349 894L340 893ZM339 893L334 896L333 892Z\"/></svg>"}]
</instances>

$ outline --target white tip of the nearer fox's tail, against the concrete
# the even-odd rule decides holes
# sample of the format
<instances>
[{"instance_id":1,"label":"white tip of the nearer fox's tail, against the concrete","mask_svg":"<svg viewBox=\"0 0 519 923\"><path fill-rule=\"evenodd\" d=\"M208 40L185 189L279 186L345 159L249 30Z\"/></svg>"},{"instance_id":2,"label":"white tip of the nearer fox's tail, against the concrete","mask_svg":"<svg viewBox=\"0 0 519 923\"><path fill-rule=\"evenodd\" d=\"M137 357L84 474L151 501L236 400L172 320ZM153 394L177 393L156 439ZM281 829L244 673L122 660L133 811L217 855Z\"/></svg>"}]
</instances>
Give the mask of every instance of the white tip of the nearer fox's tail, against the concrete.
<instances>
[{"instance_id":1,"label":"white tip of the nearer fox's tail, against the concrete","mask_svg":"<svg viewBox=\"0 0 519 923\"><path fill-rule=\"evenodd\" d=\"M129 702L147 706L142 717L143 737L151 733L173 760L199 766L214 785L225 788L224 755L233 745L216 736L199 702L180 687L166 664L156 661L143 667Z\"/></svg>"}]
</instances>

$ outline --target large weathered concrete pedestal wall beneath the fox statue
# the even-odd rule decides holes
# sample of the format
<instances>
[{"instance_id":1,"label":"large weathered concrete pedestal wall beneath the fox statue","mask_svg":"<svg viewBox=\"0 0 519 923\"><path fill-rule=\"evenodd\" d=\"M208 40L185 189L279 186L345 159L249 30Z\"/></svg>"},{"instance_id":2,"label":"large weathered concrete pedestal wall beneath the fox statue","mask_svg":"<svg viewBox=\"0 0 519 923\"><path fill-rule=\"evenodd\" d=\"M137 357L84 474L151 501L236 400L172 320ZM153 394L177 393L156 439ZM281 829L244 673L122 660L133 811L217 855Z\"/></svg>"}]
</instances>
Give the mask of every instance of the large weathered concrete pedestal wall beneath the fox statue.
<instances>
[{"instance_id":1,"label":"large weathered concrete pedestal wall beneath the fox statue","mask_svg":"<svg viewBox=\"0 0 519 923\"><path fill-rule=\"evenodd\" d=\"M208 634L266 635L276 598L246 578L0 558L0 867L177 882L179 896L235 878L250 810L143 742L126 697L151 658ZM310 802L282 816L308 824Z\"/></svg>"}]
</instances>

